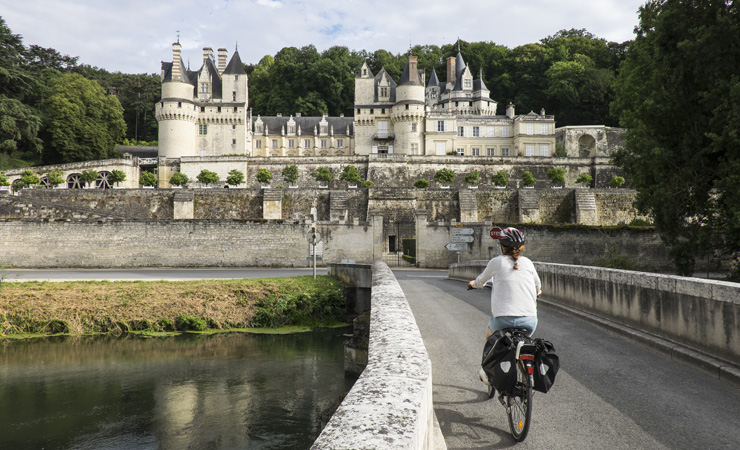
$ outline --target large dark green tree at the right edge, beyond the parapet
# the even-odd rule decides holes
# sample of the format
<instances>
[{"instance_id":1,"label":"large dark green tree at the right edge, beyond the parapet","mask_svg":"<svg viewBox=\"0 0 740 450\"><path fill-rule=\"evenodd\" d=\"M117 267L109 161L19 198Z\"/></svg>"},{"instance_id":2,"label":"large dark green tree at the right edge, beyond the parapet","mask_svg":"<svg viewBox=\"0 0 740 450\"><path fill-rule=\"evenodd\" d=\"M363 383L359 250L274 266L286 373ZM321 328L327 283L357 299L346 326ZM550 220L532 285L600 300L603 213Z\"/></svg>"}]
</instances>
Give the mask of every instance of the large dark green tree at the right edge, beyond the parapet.
<instances>
[{"instance_id":1,"label":"large dark green tree at the right edge, beyond the parapet","mask_svg":"<svg viewBox=\"0 0 740 450\"><path fill-rule=\"evenodd\" d=\"M740 40L727 37L740 35L738 5L651 0L639 18L612 105L627 128L615 162L679 274L693 273L704 251L737 261Z\"/></svg>"}]
</instances>

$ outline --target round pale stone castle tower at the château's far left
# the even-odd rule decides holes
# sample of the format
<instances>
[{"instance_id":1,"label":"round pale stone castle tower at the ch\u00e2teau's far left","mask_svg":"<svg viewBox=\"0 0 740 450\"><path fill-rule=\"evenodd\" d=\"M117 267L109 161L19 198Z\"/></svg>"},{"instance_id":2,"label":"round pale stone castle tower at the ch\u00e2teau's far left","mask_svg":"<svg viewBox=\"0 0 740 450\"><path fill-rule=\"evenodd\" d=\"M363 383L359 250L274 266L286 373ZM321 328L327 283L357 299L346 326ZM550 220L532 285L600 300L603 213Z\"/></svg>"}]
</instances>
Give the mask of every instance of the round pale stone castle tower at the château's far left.
<instances>
[{"instance_id":1,"label":"round pale stone castle tower at the ch\u00e2teau's far left","mask_svg":"<svg viewBox=\"0 0 740 450\"><path fill-rule=\"evenodd\" d=\"M159 156L168 158L195 154L195 86L182 62L181 49L179 42L172 44L172 62L162 63L162 99L155 107Z\"/></svg>"}]
</instances>

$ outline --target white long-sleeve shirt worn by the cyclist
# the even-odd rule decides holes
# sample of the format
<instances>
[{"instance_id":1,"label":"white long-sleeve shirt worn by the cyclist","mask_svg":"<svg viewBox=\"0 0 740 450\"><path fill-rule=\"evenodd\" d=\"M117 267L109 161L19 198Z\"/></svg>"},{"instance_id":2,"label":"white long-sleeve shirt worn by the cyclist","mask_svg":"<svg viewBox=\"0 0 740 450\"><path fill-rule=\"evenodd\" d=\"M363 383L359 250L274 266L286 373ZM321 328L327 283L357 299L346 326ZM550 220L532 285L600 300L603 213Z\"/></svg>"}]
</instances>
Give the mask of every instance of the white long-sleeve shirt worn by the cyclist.
<instances>
[{"instance_id":1,"label":"white long-sleeve shirt worn by the cyclist","mask_svg":"<svg viewBox=\"0 0 740 450\"><path fill-rule=\"evenodd\" d=\"M519 270L514 270L514 260L499 255L475 279L475 287L480 289L493 277L491 314L494 317L537 316L537 292L542 282L529 258L520 256L518 262Z\"/></svg>"}]
</instances>

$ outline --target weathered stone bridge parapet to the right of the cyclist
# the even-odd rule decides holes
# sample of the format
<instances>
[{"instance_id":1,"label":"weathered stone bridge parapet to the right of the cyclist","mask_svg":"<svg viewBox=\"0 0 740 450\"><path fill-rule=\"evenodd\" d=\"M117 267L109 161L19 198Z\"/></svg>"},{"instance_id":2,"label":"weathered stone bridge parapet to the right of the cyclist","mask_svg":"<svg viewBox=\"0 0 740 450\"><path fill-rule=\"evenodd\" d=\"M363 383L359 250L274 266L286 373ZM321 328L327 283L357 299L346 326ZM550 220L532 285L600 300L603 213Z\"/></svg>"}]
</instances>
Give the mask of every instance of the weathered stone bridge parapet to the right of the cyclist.
<instances>
[{"instance_id":1,"label":"weathered stone bridge parapet to the right of the cyclist","mask_svg":"<svg viewBox=\"0 0 740 450\"><path fill-rule=\"evenodd\" d=\"M486 263L453 264L449 276L471 280ZM544 297L727 361L731 376L740 379L740 284L566 264L535 267Z\"/></svg>"}]
</instances>

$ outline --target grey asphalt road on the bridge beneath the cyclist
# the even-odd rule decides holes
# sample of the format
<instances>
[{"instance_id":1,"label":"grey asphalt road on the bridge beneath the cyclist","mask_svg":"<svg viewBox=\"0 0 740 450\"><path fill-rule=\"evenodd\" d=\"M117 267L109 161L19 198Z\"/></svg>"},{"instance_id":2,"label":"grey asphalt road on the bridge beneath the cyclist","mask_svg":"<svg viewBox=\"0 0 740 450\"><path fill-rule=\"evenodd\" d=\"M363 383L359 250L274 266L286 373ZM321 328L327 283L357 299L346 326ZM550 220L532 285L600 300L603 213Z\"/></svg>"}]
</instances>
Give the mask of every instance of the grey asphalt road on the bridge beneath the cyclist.
<instances>
[{"instance_id":1,"label":"grey asphalt road on the bridge beneath the cyclist","mask_svg":"<svg viewBox=\"0 0 740 450\"><path fill-rule=\"evenodd\" d=\"M490 291L466 291L446 271L394 273L432 359L448 448L514 447L504 408L477 377ZM740 448L740 390L542 303L539 318L535 335L554 343L561 370L535 395L517 449Z\"/></svg>"}]
</instances>

